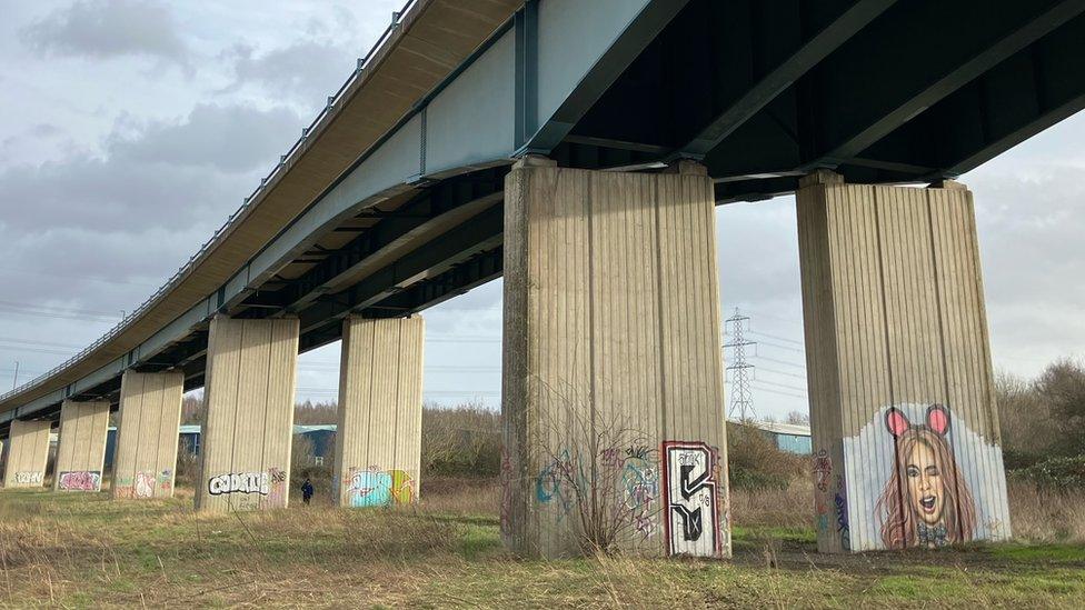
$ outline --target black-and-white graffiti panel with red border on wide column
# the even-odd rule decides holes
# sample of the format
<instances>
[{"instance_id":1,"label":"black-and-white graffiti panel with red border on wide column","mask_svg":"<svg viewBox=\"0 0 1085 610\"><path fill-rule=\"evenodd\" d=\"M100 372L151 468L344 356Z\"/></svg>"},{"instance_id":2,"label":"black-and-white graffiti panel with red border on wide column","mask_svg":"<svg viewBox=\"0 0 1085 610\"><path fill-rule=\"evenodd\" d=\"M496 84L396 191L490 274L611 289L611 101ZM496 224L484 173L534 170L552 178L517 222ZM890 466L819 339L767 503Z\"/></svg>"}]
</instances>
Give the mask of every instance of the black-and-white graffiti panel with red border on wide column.
<instances>
[{"instance_id":1,"label":"black-and-white graffiti panel with red border on wide column","mask_svg":"<svg viewBox=\"0 0 1085 610\"><path fill-rule=\"evenodd\" d=\"M720 553L716 451L699 441L664 441L664 526L670 554Z\"/></svg>"}]
</instances>

